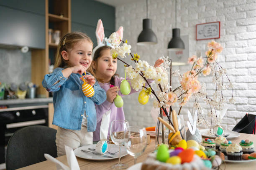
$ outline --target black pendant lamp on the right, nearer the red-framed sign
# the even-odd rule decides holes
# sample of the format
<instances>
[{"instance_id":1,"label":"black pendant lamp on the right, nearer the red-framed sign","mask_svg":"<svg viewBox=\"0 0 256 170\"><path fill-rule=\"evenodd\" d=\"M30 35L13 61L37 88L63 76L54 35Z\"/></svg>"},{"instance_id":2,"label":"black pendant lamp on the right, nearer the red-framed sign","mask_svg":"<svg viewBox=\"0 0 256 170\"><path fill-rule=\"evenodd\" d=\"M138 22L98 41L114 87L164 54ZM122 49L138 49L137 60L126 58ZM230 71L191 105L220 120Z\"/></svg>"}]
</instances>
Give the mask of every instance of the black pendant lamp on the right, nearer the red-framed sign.
<instances>
[{"instance_id":1,"label":"black pendant lamp on the right, nearer the red-framed sign","mask_svg":"<svg viewBox=\"0 0 256 170\"><path fill-rule=\"evenodd\" d=\"M172 29L172 40L168 44L169 51L180 51L185 49L184 42L180 38L180 29L177 28L177 0L175 0L175 27Z\"/></svg>"}]
</instances>

